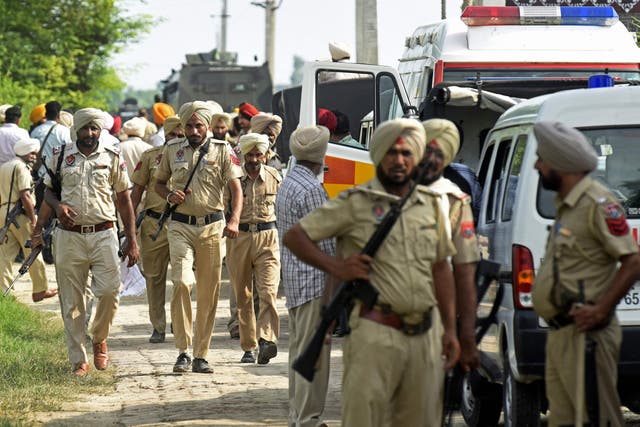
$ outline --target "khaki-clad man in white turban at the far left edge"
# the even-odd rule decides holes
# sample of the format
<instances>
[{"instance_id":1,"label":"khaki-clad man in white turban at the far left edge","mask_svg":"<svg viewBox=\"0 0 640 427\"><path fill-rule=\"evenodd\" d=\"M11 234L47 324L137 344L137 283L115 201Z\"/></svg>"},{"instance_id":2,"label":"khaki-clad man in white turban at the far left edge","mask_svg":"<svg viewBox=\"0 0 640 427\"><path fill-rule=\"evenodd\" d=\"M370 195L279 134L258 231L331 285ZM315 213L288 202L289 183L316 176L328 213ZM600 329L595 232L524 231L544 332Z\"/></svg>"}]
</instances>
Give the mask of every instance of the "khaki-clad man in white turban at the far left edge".
<instances>
[{"instance_id":1,"label":"khaki-clad man in white turban at the far left edge","mask_svg":"<svg viewBox=\"0 0 640 427\"><path fill-rule=\"evenodd\" d=\"M7 215L18 201L22 202L23 212L16 217L19 228L10 224L7 240L0 241L0 290L6 290L13 281L13 260L20 248L28 257L31 249L24 244L30 239L31 230L36 224L35 194L32 191L31 168L35 164L40 150L40 141L34 138L18 140L13 146L16 158L0 166L0 224L5 225ZM38 255L31 267L29 276L33 283L31 298L33 302L42 301L58 294L57 289L49 289L42 256Z\"/></svg>"}]
</instances>

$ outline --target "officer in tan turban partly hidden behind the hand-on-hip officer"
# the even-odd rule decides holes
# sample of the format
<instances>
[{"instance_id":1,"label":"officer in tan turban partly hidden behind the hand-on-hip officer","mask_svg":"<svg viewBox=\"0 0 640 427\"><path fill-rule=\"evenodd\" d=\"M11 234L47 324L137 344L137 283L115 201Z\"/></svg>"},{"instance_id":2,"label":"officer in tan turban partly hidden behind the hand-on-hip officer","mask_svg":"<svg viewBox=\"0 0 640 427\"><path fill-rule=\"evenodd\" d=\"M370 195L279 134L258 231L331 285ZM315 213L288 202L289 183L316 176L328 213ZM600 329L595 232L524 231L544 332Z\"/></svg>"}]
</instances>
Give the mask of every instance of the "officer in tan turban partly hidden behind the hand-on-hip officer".
<instances>
[{"instance_id":1,"label":"officer in tan turban partly hidden behind the hand-on-hip officer","mask_svg":"<svg viewBox=\"0 0 640 427\"><path fill-rule=\"evenodd\" d=\"M453 122L444 119L430 119L422 122L427 135L425 160L431 164L425 184L439 193L443 212L449 222L446 224L456 254L451 258L456 283L456 311L460 321L460 366L465 372L478 367L480 363L475 342L476 285L475 267L480 260L480 250L473 225L471 197L456 184L443 177L445 168L451 163L460 147L460 135ZM435 319L432 330L434 346L440 345L437 333L440 321ZM440 370L442 372L442 370Z\"/></svg>"}]
</instances>

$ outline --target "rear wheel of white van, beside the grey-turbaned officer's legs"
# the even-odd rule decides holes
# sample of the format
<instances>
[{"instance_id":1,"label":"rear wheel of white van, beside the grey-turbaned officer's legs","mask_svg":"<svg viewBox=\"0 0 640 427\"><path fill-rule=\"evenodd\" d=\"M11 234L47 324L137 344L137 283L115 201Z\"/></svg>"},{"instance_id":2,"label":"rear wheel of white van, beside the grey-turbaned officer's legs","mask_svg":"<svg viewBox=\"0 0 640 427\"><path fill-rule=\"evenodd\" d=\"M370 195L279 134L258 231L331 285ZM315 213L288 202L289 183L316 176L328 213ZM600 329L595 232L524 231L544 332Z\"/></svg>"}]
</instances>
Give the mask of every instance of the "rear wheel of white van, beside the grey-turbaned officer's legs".
<instances>
[{"instance_id":1,"label":"rear wheel of white van, beside the grey-turbaned officer's legs","mask_svg":"<svg viewBox=\"0 0 640 427\"><path fill-rule=\"evenodd\" d=\"M516 381L511 373L506 350L502 357L502 406L504 408L505 427L540 426L540 408L542 404L540 382L526 384Z\"/></svg>"}]
</instances>

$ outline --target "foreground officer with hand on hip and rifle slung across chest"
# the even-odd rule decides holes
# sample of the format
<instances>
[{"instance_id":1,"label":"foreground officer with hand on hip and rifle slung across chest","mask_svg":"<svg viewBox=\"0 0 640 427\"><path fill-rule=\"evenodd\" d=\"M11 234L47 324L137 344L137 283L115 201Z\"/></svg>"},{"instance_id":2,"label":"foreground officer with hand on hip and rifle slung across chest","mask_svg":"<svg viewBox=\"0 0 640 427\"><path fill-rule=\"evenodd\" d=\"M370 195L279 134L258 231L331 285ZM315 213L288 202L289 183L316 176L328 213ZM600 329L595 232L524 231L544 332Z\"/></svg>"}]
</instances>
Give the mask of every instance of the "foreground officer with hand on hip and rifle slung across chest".
<instances>
[{"instance_id":1,"label":"foreground officer with hand on hip and rifle slung across chest","mask_svg":"<svg viewBox=\"0 0 640 427\"><path fill-rule=\"evenodd\" d=\"M437 194L418 186L375 258L360 254L390 204L411 188L424 149L420 122L383 123L371 140L376 177L312 211L284 236L285 246L304 262L340 280L369 280L380 292L375 307L356 302L351 312L351 334L344 344L345 426L423 426L439 416L440 384L425 374L440 363L430 353L427 334L435 309L444 325L446 369L458 361L455 291L447 262L455 249ZM344 259L314 243L332 236Z\"/></svg>"}]
</instances>

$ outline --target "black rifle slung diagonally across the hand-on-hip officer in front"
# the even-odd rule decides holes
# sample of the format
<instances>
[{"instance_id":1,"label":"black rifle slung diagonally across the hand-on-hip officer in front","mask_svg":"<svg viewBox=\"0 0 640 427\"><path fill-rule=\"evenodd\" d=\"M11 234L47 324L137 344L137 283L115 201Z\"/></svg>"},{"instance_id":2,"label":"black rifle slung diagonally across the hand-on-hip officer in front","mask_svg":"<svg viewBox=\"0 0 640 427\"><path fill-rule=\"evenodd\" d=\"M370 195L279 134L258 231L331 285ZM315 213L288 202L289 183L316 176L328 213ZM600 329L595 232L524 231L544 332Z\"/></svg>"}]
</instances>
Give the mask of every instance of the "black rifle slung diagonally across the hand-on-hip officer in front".
<instances>
[{"instance_id":1,"label":"black rifle slung diagonally across the hand-on-hip officer in front","mask_svg":"<svg viewBox=\"0 0 640 427\"><path fill-rule=\"evenodd\" d=\"M409 200L415 188L420 185L419 183L424 181L430 168L430 162L425 162L425 164L420 167L407 194L396 203L391 204L391 209L389 209L389 212L382 218L380 225L378 225L376 231L369 238L361 254L369 255L370 257L375 256L382 242L384 242L391 228L400 217L403 206L407 200ZM378 291L366 280L351 280L344 282L340 288L338 288L329 304L323 308L320 325L318 329L316 329L311 341L304 352L293 362L293 369L307 381L313 381L315 367L320 357L327 331L342 310L351 305L354 298L359 299L366 308L370 309L378 299Z\"/></svg>"}]
</instances>

